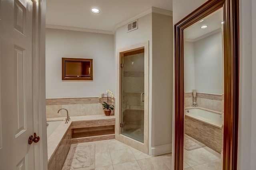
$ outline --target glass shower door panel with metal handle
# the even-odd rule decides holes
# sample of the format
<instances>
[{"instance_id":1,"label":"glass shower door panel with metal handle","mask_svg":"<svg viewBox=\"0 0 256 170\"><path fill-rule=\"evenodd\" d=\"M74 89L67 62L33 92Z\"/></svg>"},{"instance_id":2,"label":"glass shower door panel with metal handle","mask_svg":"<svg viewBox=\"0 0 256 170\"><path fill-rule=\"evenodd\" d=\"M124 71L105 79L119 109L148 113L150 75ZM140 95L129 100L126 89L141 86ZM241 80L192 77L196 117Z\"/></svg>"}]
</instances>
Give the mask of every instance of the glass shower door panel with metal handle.
<instances>
[{"instance_id":1,"label":"glass shower door panel with metal handle","mask_svg":"<svg viewBox=\"0 0 256 170\"><path fill-rule=\"evenodd\" d=\"M122 57L121 134L144 143L144 51L141 50Z\"/></svg>"}]
</instances>

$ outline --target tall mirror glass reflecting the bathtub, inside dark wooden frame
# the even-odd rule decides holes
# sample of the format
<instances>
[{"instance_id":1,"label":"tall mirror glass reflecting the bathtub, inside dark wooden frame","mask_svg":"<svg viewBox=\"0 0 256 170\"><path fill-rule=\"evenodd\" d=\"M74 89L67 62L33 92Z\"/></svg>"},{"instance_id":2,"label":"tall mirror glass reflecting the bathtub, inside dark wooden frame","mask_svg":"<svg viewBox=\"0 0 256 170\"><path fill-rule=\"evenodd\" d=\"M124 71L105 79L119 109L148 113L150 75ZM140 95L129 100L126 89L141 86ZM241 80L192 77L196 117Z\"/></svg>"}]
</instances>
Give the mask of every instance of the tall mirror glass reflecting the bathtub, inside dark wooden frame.
<instances>
[{"instance_id":1,"label":"tall mirror glass reflecting the bathtub, inside dark wooden frame","mask_svg":"<svg viewBox=\"0 0 256 170\"><path fill-rule=\"evenodd\" d=\"M184 29L184 168L221 169L223 9Z\"/></svg>"}]
</instances>

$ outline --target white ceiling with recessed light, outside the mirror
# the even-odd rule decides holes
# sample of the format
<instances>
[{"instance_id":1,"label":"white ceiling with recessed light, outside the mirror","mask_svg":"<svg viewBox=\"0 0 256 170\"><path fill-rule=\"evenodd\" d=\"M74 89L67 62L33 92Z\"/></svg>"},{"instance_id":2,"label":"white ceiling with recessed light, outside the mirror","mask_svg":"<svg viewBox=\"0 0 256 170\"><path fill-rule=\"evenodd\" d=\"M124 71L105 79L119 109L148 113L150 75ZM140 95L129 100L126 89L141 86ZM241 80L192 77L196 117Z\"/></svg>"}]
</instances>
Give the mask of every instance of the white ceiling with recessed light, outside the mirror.
<instances>
[{"instance_id":1,"label":"white ceiling with recessed light, outside the mirror","mask_svg":"<svg viewBox=\"0 0 256 170\"><path fill-rule=\"evenodd\" d=\"M46 24L113 31L151 7L172 11L172 0L47 0ZM100 14L93 14L92 8Z\"/></svg>"}]
</instances>

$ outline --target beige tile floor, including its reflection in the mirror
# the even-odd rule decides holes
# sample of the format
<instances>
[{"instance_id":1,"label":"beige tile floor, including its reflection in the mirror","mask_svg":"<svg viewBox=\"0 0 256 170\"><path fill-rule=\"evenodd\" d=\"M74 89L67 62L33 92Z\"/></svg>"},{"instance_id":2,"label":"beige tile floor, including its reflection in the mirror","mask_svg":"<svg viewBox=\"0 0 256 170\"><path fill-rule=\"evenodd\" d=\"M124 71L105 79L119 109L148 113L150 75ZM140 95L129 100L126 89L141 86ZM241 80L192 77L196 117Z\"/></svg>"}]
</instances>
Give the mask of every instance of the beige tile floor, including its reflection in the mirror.
<instances>
[{"instance_id":1,"label":"beige tile floor, including its reflection in the mirror","mask_svg":"<svg viewBox=\"0 0 256 170\"><path fill-rule=\"evenodd\" d=\"M70 156L72 156L74 148L76 148L76 152L80 152L79 149L83 149L83 146L87 146L88 144L95 146L95 159L91 159L95 160L93 162L93 166L95 164L95 170L171 170L171 153L160 156L149 156L115 139L73 144L71 145L66 161L72 159ZM73 151L71 152L71 150ZM208 147L190 151L184 150L184 170L220 170L220 164L220 154ZM94 169L82 168L82 166L81 168L78 167L74 169ZM62 170L72 170L72 168L63 167Z\"/></svg>"}]
</instances>

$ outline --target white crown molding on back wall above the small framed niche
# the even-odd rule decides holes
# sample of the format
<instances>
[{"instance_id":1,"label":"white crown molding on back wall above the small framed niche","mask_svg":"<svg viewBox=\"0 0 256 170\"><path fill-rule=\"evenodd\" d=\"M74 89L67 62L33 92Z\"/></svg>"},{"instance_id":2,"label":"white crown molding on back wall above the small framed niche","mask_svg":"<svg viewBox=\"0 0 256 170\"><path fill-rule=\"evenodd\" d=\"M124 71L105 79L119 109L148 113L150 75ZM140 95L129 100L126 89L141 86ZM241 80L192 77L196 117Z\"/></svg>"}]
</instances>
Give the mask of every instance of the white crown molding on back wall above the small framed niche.
<instances>
[{"instance_id":1,"label":"white crown molding on back wall above the small framed niche","mask_svg":"<svg viewBox=\"0 0 256 170\"><path fill-rule=\"evenodd\" d=\"M72 30L72 31L83 31L83 32L90 32L90 33L113 34L112 31L105 31L105 30L99 30L99 29L88 29L88 28L80 28L80 27L68 27L68 26L61 26L61 25L50 25L50 24L46 24L46 28L65 29L65 30Z\"/></svg>"}]
</instances>

